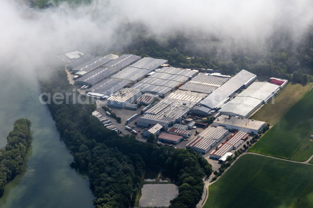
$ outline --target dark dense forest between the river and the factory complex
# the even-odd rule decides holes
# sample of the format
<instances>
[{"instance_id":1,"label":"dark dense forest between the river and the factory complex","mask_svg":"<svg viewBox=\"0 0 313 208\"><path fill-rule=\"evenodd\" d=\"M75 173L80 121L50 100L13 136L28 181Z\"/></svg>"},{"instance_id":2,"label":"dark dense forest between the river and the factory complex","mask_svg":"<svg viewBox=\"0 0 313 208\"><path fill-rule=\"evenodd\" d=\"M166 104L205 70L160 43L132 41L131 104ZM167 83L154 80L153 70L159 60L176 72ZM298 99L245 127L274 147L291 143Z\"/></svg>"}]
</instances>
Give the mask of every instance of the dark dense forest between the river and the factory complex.
<instances>
[{"instance_id":1,"label":"dark dense forest between the river and the factory complex","mask_svg":"<svg viewBox=\"0 0 313 208\"><path fill-rule=\"evenodd\" d=\"M51 95L73 89L64 70L41 78L40 85L42 92ZM212 166L198 153L140 142L133 135L121 137L91 116L95 110L93 104L51 103L49 110L61 139L74 156L71 166L89 174L90 188L96 196L95 207L133 206L143 172L152 165L171 172L172 180L179 186L179 195L170 207L191 208L200 200L202 179L211 174Z\"/></svg>"}]
</instances>

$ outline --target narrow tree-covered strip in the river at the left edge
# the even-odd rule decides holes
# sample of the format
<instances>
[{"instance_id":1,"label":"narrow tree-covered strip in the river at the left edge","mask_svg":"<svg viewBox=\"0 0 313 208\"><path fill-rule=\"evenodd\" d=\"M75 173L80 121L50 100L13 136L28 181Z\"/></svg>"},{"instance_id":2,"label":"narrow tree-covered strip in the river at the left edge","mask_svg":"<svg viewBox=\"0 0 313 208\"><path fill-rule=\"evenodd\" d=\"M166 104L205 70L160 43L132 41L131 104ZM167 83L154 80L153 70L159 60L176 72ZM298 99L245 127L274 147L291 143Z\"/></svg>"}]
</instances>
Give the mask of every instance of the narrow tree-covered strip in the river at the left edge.
<instances>
[{"instance_id":1,"label":"narrow tree-covered strip in the river at the left edge","mask_svg":"<svg viewBox=\"0 0 313 208\"><path fill-rule=\"evenodd\" d=\"M0 150L0 196L8 181L13 180L22 170L27 150L32 143L30 126L28 119L16 120L7 137L7 145Z\"/></svg>"}]
</instances>

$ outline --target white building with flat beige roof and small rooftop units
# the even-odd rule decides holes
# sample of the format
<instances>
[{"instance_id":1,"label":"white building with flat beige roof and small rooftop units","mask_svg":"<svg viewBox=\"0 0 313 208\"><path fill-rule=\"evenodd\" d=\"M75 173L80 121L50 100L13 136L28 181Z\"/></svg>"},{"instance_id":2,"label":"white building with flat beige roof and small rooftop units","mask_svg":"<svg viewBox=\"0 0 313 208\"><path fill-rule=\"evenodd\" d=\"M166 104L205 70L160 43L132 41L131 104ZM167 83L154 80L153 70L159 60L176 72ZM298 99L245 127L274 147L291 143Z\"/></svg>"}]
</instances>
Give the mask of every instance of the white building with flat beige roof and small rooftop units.
<instances>
[{"instance_id":1,"label":"white building with flat beige roof and small rooftop units","mask_svg":"<svg viewBox=\"0 0 313 208\"><path fill-rule=\"evenodd\" d=\"M213 121L213 126L223 126L233 131L244 131L249 134L257 134L265 126L264 121L241 118L239 116L218 116Z\"/></svg>"}]
</instances>

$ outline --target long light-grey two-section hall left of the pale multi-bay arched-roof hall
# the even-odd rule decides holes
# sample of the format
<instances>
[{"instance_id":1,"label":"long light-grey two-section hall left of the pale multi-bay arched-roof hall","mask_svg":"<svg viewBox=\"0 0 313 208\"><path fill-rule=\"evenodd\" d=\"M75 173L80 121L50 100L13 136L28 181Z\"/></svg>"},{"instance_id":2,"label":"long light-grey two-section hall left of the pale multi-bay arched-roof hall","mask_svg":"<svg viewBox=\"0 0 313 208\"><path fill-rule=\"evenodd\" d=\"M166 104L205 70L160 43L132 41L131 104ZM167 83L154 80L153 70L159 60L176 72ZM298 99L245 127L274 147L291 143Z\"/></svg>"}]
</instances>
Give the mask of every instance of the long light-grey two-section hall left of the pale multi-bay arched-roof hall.
<instances>
[{"instance_id":1,"label":"long light-grey two-section hall left of the pale multi-bay arched-roof hall","mask_svg":"<svg viewBox=\"0 0 313 208\"><path fill-rule=\"evenodd\" d=\"M145 78L146 74L159 68L163 63L167 63L167 60L145 57L121 70L112 76L112 78L135 84Z\"/></svg>"}]
</instances>

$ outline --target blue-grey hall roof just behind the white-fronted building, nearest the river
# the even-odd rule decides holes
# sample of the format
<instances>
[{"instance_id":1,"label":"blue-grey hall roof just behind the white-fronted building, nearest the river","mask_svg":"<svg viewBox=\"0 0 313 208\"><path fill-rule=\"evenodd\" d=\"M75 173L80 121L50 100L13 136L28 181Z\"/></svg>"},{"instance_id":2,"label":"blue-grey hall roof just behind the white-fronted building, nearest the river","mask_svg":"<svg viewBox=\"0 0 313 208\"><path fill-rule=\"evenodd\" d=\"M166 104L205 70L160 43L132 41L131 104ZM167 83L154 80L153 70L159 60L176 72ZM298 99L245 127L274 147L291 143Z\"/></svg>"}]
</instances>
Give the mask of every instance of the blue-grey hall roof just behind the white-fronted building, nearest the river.
<instances>
[{"instance_id":1,"label":"blue-grey hall roof just behind the white-fronted building, nearest the river","mask_svg":"<svg viewBox=\"0 0 313 208\"><path fill-rule=\"evenodd\" d=\"M126 85L128 85L129 82L116 80L116 79L106 79L105 81L102 81L95 86L88 89L86 92L96 92L104 95L111 95L122 88L124 88Z\"/></svg>"}]
</instances>

